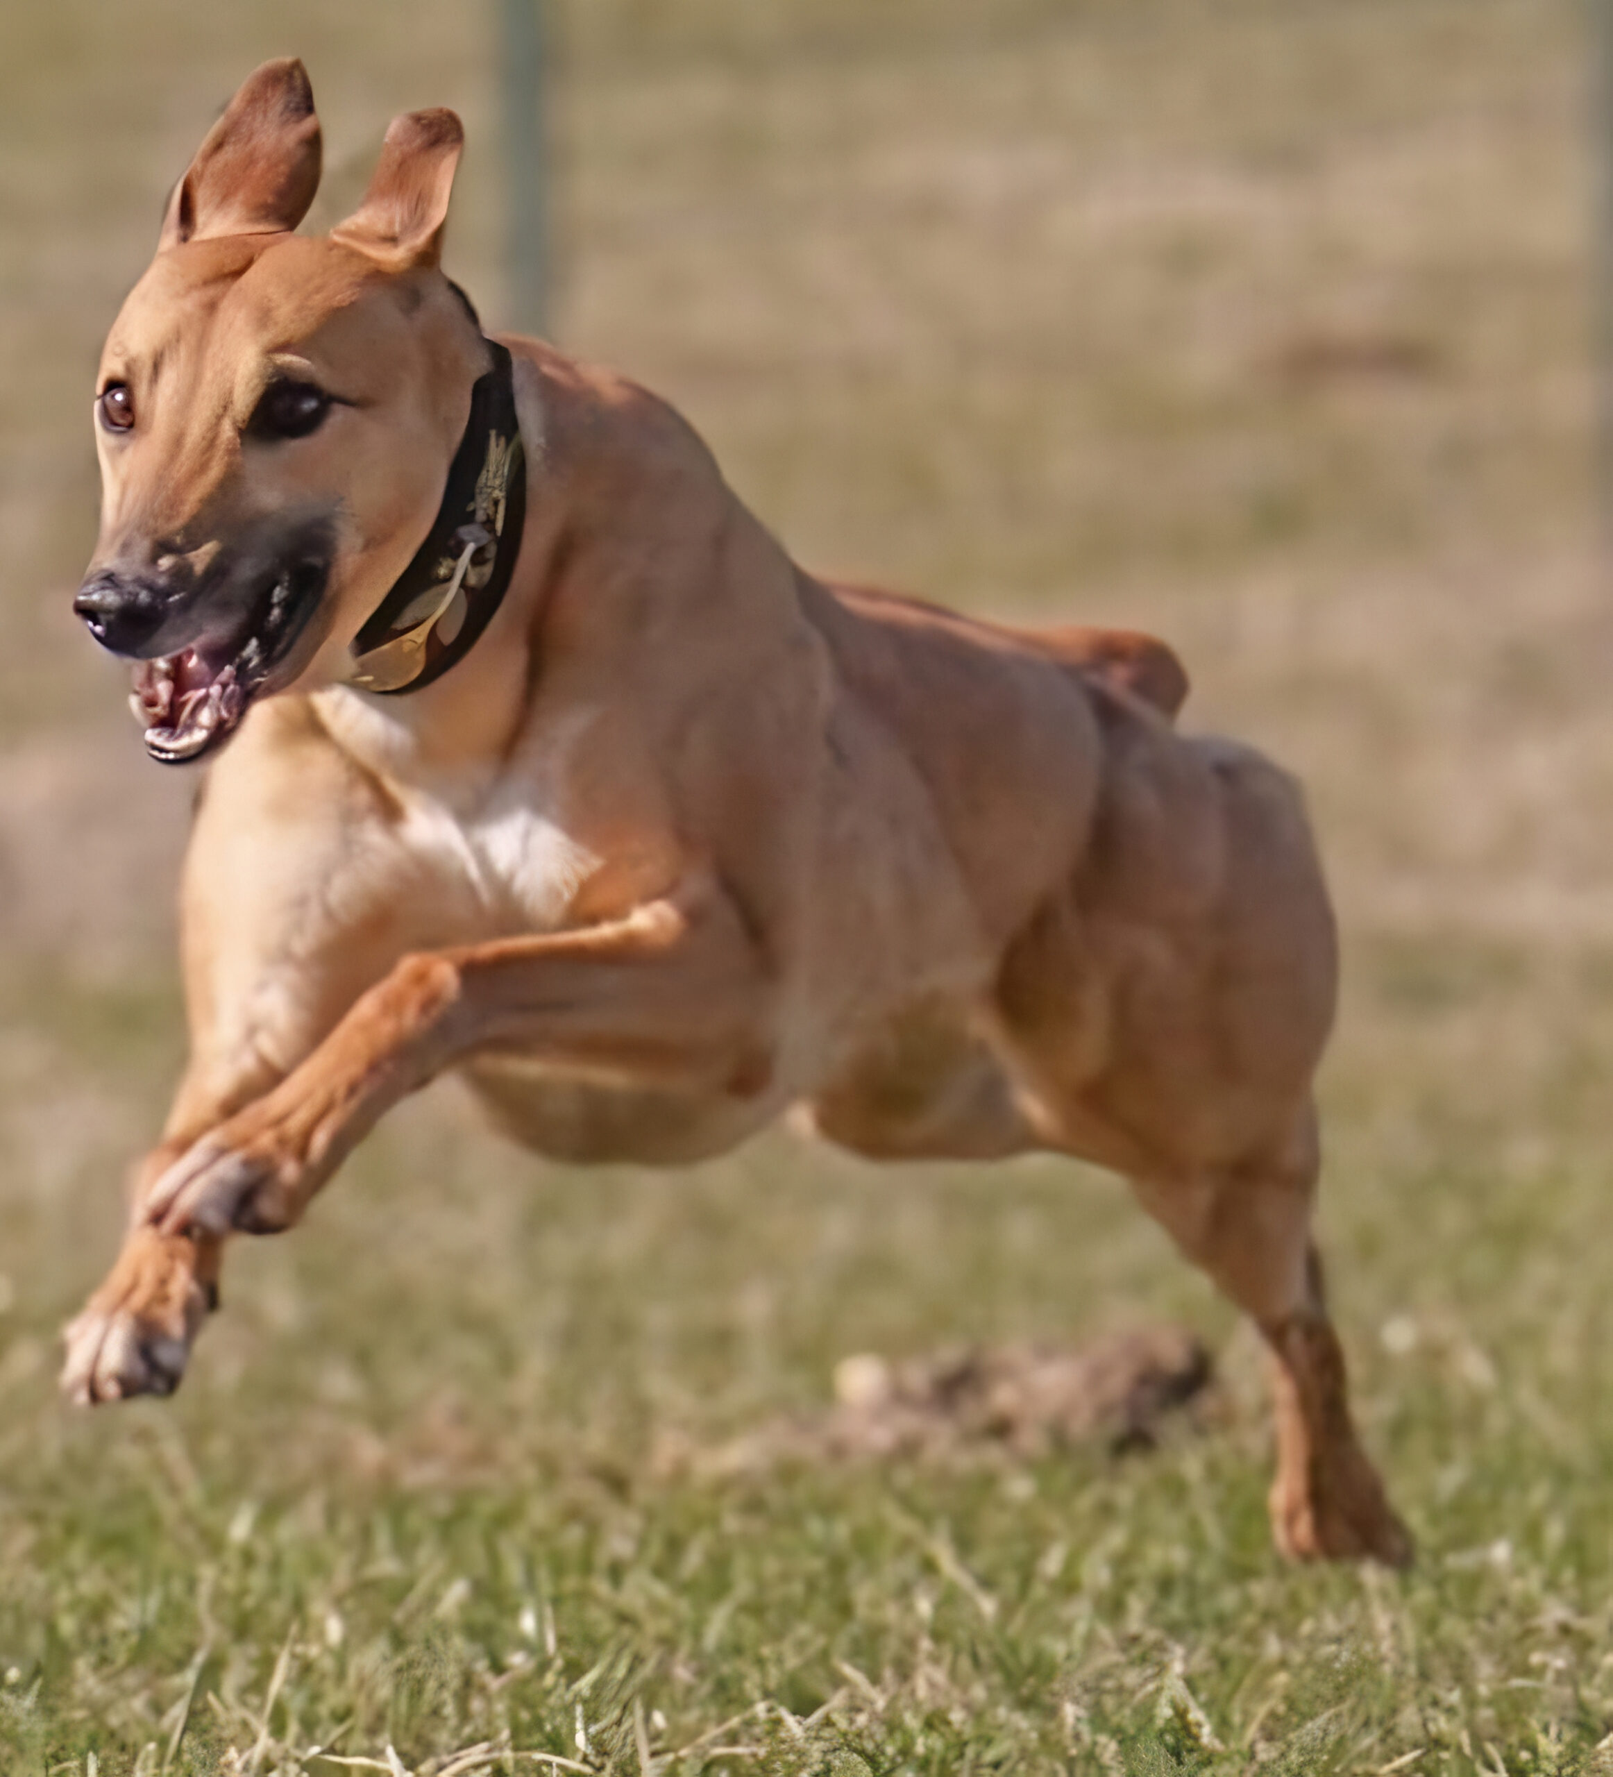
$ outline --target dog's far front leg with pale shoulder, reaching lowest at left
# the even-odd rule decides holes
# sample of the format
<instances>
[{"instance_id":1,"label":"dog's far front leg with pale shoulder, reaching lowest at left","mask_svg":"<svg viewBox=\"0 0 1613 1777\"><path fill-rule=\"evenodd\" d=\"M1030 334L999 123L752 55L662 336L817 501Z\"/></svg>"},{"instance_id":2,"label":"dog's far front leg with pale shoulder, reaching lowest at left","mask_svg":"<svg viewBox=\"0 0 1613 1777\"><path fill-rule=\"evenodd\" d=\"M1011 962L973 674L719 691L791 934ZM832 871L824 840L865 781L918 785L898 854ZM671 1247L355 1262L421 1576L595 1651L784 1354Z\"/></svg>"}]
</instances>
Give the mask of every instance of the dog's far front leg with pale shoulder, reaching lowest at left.
<instances>
[{"instance_id":1,"label":"dog's far front leg with pale shoulder, reaching lowest at left","mask_svg":"<svg viewBox=\"0 0 1613 1777\"><path fill-rule=\"evenodd\" d=\"M476 929L295 700L254 711L211 768L181 908L190 1061L162 1141L131 1169L123 1249L66 1329L62 1386L82 1402L169 1393L217 1301L217 1239L153 1228L156 1182L272 1093L400 956Z\"/></svg>"}]
</instances>

